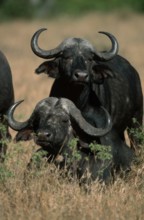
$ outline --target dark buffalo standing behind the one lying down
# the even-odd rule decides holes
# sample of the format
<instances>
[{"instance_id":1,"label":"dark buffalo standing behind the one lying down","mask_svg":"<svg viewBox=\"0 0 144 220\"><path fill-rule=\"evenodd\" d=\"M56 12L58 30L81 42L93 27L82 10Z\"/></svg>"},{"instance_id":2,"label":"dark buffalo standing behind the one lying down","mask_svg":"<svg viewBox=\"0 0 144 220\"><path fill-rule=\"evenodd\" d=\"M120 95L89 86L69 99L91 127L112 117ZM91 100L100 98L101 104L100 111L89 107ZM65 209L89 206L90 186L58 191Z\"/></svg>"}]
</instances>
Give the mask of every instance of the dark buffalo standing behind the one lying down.
<instances>
[{"instance_id":1,"label":"dark buffalo standing behind the one lying down","mask_svg":"<svg viewBox=\"0 0 144 220\"><path fill-rule=\"evenodd\" d=\"M82 38L68 38L51 50L41 49L38 39L44 28L35 32L31 39L32 51L47 59L36 73L45 72L55 78L50 96L72 100L81 110L85 119L101 127L95 110L104 106L111 115L113 128L122 140L127 129L131 146L138 141L129 130L142 125L143 95L139 75L134 67L118 55L118 42L107 32L112 47L109 51L98 52ZM135 119L135 120L133 120ZM134 123L137 121L137 123Z\"/></svg>"}]
</instances>

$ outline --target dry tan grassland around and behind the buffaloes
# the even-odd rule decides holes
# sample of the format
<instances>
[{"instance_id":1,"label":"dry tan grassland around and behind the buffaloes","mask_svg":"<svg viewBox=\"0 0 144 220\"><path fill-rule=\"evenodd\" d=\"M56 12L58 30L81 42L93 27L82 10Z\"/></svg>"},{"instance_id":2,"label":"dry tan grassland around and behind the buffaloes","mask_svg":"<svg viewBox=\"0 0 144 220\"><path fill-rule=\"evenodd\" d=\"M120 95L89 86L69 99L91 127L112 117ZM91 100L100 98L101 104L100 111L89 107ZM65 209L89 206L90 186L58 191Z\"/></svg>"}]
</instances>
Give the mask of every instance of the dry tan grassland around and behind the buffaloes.
<instances>
[{"instance_id":1,"label":"dry tan grassland around and behind the buffaloes","mask_svg":"<svg viewBox=\"0 0 144 220\"><path fill-rule=\"evenodd\" d=\"M144 16L134 14L90 14L81 18L46 21L15 21L0 24L0 49L7 56L13 73L15 100L25 102L16 117L25 120L36 103L45 98L53 80L34 74L43 61L30 48L33 33L48 28L39 44L45 49L57 46L70 36L84 37L98 50L110 47L109 40L98 31L113 33L118 39L119 54L138 70L144 86ZM12 136L15 132L11 130ZM24 170L37 147L33 141L9 143L0 175L0 220L95 219L142 220L144 217L144 163L133 166L126 180L117 179L112 186L94 183L85 193L75 182L59 178L53 166L36 171L24 181ZM142 156L144 159L144 157ZM51 170L53 172L51 172Z\"/></svg>"}]
</instances>

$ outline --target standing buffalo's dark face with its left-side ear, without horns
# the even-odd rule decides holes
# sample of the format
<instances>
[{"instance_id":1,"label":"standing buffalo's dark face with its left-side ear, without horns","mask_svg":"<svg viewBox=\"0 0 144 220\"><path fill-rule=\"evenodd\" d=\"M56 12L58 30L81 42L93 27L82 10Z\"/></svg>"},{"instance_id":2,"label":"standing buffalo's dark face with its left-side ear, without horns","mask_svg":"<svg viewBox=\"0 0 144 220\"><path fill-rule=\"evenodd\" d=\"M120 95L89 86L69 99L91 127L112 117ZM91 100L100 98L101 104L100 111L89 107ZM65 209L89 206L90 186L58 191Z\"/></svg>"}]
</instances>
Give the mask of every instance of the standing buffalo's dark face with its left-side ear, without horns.
<instances>
[{"instance_id":1,"label":"standing buffalo's dark face with its left-side ear, without horns","mask_svg":"<svg viewBox=\"0 0 144 220\"><path fill-rule=\"evenodd\" d=\"M90 50L81 46L82 42L65 48L60 57L42 63L36 73L45 72L53 78L62 77L64 80L74 84L88 84L90 82L90 72L93 71L93 54ZM59 74L61 73L61 74Z\"/></svg>"}]
</instances>

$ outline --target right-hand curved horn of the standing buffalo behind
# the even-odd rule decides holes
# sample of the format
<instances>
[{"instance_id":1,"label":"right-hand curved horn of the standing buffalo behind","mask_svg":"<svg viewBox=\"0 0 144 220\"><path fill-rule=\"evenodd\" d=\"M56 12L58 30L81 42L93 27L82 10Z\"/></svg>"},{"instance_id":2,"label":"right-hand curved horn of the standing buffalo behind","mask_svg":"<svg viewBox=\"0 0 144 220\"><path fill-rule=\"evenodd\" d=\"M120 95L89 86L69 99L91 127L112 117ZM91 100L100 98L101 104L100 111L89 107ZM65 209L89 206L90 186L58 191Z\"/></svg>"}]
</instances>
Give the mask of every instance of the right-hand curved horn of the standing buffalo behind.
<instances>
[{"instance_id":1,"label":"right-hand curved horn of the standing buffalo behind","mask_svg":"<svg viewBox=\"0 0 144 220\"><path fill-rule=\"evenodd\" d=\"M108 32L100 31L99 33L105 34L106 36L109 37L109 39L111 40L111 43L112 43L112 48L110 49L110 51L107 51L107 52L95 51L95 55L97 56L97 58L100 59L100 61L110 60L114 56L116 56L118 53L118 49L119 49L118 41L112 34L110 34Z\"/></svg>"}]
</instances>

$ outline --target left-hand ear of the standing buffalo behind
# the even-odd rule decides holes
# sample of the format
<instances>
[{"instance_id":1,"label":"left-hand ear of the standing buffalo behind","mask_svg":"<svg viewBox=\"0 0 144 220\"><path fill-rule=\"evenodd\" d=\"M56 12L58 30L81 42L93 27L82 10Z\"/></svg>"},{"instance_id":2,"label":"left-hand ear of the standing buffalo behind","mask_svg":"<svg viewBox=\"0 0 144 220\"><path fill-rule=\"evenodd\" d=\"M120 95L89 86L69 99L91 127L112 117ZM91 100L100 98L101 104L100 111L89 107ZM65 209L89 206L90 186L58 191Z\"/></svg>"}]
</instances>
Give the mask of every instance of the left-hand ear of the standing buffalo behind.
<instances>
[{"instance_id":1,"label":"left-hand ear of the standing buffalo behind","mask_svg":"<svg viewBox=\"0 0 144 220\"><path fill-rule=\"evenodd\" d=\"M59 77L59 67L57 60L45 61L35 70L36 74L45 73L53 78Z\"/></svg>"}]
</instances>

